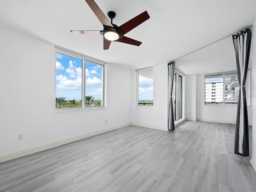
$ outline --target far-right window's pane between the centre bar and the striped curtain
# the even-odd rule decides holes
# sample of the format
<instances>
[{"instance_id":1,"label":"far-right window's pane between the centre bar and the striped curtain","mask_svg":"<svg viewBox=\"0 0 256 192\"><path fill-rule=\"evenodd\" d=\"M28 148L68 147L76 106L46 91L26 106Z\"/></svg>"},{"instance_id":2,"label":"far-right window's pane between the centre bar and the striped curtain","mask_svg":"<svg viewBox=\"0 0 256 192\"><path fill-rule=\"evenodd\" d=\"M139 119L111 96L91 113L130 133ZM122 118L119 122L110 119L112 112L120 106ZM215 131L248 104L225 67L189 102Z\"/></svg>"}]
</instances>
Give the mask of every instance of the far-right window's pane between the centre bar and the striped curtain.
<instances>
[{"instance_id":1,"label":"far-right window's pane between the centre bar and the striped curtain","mask_svg":"<svg viewBox=\"0 0 256 192\"><path fill-rule=\"evenodd\" d=\"M239 82L237 73L225 74L225 104L237 104Z\"/></svg>"}]
</instances>

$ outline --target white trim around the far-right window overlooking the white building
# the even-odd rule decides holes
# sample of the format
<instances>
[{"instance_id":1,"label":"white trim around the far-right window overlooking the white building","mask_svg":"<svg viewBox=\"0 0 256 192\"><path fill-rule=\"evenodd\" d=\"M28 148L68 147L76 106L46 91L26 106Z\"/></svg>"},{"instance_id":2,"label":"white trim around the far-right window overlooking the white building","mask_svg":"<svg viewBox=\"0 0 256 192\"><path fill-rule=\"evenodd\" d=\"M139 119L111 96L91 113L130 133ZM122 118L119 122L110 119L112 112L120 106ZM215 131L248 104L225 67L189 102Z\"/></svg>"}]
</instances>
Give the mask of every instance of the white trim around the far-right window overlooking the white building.
<instances>
[{"instance_id":1,"label":"white trim around the far-right window overlooking the white building","mask_svg":"<svg viewBox=\"0 0 256 192\"><path fill-rule=\"evenodd\" d=\"M219 72L219 73L211 73L211 74L205 74L204 75L204 87L205 87L205 77L206 76L213 76L213 75L223 75L223 79L225 79L225 74L230 74L230 73L237 73L237 70L235 71L226 71L226 72ZM247 106L250 106L250 83L251 83L251 69L247 70L247 77L246 77L246 103ZM223 83L223 90L225 88L225 84ZM205 88L204 88L204 99L205 99ZM236 106L237 104L226 104L225 102L225 94L223 94L223 103L222 104L208 104L205 103L204 101L204 105L208 105L208 106Z\"/></svg>"}]
</instances>

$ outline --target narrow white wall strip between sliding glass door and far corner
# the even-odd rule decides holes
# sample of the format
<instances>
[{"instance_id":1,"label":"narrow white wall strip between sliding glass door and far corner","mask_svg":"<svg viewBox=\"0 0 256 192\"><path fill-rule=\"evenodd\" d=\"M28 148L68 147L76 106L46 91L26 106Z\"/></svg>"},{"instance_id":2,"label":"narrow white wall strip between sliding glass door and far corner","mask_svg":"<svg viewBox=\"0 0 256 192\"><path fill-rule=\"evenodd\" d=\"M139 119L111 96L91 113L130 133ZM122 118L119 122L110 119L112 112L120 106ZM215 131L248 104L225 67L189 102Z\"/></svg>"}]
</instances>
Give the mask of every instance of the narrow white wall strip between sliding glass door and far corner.
<instances>
[{"instance_id":1,"label":"narrow white wall strip between sliding glass door and far corner","mask_svg":"<svg viewBox=\"0 0 256 192\"><path fill-rule=\"evenodd\" d=\"M185 78L185 118L196 120L196 75Z\"/></svg>"}]
</instances>

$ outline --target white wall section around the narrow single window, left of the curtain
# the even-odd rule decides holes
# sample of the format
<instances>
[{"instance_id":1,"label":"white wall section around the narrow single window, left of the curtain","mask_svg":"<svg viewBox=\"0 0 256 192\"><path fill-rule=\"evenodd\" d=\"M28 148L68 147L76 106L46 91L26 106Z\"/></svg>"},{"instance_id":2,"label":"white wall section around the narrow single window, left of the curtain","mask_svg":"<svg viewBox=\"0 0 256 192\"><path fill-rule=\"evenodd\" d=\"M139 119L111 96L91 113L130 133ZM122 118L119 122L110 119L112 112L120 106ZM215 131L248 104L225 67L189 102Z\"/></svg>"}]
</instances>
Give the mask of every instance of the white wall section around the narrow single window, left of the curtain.
<instances>
[{"instance_id":1,"label":"white wall section around the narrow single window, left of the curtain","mask_svg":"<svg viewBox=\"0 0 256 192\"><path fill-rule=\"evenodd\" d=\"M136 106L136 72L132 72L132 124L160 130L168 130L168 64L153 66L154 106Z\"/></svg>"}]
</instances>

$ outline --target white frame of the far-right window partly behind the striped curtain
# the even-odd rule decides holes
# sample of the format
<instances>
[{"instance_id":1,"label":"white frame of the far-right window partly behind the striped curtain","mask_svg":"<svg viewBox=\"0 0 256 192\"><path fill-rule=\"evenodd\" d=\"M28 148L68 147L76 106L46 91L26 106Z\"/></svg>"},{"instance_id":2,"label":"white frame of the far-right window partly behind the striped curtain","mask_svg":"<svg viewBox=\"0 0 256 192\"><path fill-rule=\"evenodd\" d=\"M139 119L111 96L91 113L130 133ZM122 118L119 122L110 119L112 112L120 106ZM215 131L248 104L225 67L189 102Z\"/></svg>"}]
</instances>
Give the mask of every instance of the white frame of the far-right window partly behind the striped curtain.
<instances>
[{"instance_id":1,"label":"white frame of the far-right window partly behind the striped curtain","mask_svg":"<svg viewBox=\"0 0 256 192\"><path fill-rule=\"evenodd\" d=\"M250 72L251 69L247 70L247 76L246 76L246 102L247 106L250 106ZM212 73L212 74L204 74L204 105L210 105L210 106L237 106L237 103L225 103L225 83L223 83L222 87L222 103L206 103L205 102L205 96L206 96L206 90L205 90L205 77L206 76L214 76L214 75L222 75L223 82L225 81L225 75L226 74L232 74L232 73L237 73L237 70L234 71L226 71L226 72L218 72L218 73ZM214 90L215 91L215 90Z\"/></svg>"}]
</instances>

